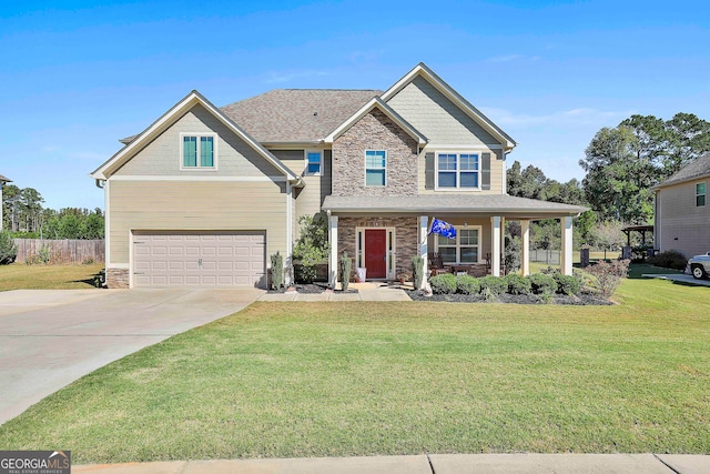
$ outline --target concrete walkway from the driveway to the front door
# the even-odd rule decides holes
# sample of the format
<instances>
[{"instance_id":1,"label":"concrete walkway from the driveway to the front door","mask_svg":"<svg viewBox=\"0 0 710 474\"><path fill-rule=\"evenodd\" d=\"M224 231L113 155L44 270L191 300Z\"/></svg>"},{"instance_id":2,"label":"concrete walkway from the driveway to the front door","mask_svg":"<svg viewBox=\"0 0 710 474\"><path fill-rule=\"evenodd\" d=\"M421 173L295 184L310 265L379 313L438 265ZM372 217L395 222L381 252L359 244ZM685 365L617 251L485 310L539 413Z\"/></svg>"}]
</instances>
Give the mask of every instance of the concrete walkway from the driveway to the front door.
<instances>
[{"instance_id":1,"label":"concrete walkway from the driveway to the front door","mask_svg":"<svg viewBox=\"0 0 710 474\"><path fill-rule=\"evenodd\" d=\"M412 289L407 283L351 283L351 289L357 293L343 293L341 291L325 291L323 293L266 293L258 301L412 301L404 288Z\"/></svg>"}]
</instances>

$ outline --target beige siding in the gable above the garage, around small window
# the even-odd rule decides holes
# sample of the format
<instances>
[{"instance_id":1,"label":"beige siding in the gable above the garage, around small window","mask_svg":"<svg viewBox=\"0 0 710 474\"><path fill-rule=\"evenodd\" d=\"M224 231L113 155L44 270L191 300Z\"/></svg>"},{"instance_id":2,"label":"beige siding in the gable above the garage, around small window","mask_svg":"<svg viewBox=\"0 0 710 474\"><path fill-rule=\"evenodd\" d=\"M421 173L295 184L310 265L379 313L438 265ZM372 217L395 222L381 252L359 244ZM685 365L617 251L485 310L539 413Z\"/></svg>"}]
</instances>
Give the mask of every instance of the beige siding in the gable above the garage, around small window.
<instances>
[{"instance_id":1,"label":"beige siding in the gable above the garage, around small window","mask_svg":"<svg viewBox=\"0 0 710 474\"><path fill-rule=\"evenodd\" d=\"M216 133L216 169L181 170L181 133ZM202 105L193 107L172 127L140 150L115 175L263 177L283 175Z\"/></svg>"}]
</instances>

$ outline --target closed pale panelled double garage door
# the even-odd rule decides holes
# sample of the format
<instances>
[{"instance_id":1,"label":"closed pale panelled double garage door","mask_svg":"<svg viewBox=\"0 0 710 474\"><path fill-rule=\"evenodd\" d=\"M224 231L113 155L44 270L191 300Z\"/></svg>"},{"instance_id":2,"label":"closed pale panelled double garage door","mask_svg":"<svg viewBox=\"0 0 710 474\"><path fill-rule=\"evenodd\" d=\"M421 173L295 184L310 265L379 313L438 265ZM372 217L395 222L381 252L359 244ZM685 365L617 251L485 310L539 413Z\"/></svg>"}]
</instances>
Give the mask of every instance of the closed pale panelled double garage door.
<instances>
[{"instance_id":1,"label":"closed pale panelled double garage door","mask_svg":"<svg viewBox=\"0 0 710 474\"><path fill-rule=\"evenodd\" d=\"M135 286L265 286L264 232L134 232Z\"/></svg>"}]
</instances>

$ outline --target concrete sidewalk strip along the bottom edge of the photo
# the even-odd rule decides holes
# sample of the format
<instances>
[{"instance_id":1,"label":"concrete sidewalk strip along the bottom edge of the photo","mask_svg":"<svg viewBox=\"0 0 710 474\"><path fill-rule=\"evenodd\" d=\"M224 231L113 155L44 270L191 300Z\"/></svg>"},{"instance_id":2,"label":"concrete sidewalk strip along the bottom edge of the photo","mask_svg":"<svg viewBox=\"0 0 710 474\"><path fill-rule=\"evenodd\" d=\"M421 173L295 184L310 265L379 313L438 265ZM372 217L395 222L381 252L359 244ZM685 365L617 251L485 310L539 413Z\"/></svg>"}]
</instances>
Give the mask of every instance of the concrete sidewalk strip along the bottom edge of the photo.
<instances>
[{"instance_id":1,"label":"concrete sidewalk strip along the bottom edge of the photo","mask_svg":"<svg viewBox=\"0 0 710 474\"><path fill-rule=\"evenodd\" d=\"M99 474L701 474L710 456L678 454L420 454L74 465Z\"/></svg>"}]
</instances>

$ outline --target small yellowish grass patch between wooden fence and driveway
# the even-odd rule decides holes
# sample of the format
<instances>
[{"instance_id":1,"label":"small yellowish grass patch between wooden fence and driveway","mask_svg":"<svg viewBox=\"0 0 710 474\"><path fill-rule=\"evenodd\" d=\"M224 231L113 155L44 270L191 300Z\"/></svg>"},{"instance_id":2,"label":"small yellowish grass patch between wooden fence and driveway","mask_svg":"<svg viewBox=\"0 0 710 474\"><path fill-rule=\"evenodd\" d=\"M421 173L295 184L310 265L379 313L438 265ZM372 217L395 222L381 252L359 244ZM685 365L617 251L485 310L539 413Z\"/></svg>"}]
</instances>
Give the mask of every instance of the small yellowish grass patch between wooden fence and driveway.
<instances>
[{"instance_id":1,"label":"small yellowish grass patch between wooden fence and driveway","mask_svg":"<svg viewBox=\"0 0 710 474\"><path fill-rule=\"evenodd\" d=\"M103 263L90 265L0 265L0 291L81 290L95 288Z\"/></svg>"}]
</instances>

